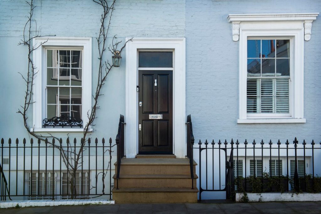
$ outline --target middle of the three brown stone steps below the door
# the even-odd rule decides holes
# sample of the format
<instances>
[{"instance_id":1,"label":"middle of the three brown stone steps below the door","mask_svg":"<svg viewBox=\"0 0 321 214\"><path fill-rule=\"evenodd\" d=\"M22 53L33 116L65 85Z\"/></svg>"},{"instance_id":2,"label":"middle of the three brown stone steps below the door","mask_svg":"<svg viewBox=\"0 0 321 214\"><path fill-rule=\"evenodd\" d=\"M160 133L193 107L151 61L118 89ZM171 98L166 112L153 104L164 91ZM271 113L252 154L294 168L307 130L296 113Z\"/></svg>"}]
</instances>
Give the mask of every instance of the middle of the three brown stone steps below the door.
<instances>
[{"instance_id":1,"label":"middle of the three brown stone steps below the door","mask_svg":"<svg viewBox=\"0 0 321 214\"><path fill-rule=\"evenodd\" d=\"M116 186L116 175L113 176ZM196 187L197 175L194 175L193 185ZM192 187L191 175L121 175L118 180L118 186L121 188L132 187Z\"/></svg>"}]
</instances>

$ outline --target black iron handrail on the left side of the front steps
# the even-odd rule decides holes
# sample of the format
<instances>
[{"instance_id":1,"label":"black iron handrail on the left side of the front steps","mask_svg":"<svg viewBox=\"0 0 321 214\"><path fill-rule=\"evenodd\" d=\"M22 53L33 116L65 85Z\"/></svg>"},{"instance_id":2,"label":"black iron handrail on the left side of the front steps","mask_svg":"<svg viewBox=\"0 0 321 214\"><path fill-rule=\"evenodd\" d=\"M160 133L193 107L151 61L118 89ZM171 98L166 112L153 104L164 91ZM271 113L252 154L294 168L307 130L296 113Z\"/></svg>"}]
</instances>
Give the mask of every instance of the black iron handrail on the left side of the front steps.
<instances>
[{"instance_id":1,"label":"black iron handrail on the left side of the front steps","mask_svg":"<svg viewBox=\"0 0 321 214\"><path fill-rule=\"evenodd\" d=\"M118 132L116 136L116 144L117 144L117 189L118 189L118 180L119 180L119 171L120 171L120 163L121 163L121 158L123 158L124 155L124 145L125 145L125 118L124 115L120 115L119 117L119 124L118 124Z\"/></svg>"}]
</instances>

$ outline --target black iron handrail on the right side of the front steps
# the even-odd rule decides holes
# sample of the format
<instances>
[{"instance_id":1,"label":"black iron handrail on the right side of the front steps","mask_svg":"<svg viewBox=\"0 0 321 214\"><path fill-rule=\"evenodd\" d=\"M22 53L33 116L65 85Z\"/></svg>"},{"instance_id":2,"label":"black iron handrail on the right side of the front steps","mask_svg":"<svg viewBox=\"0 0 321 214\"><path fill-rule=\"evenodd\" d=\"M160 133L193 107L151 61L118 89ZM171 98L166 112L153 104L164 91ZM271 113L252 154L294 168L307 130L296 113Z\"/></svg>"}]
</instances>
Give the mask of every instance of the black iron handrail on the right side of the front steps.
<instances>
[{"instance_id":1,"label":"black iron handrail on the right side of the front steps","mask_svg":"<svg viewBox=\"0 0 321 214\"><path fill-rule=\"evenodd\" d=\"M194 145L194 135L193 135L193 128L192 128L192 119L191 115L187 116L187 158L189 159L189 166L191 170L191 179L192 179L192 189L194 189L194 170L193 170L193 145Z\"/></svg>"}]
</instances>

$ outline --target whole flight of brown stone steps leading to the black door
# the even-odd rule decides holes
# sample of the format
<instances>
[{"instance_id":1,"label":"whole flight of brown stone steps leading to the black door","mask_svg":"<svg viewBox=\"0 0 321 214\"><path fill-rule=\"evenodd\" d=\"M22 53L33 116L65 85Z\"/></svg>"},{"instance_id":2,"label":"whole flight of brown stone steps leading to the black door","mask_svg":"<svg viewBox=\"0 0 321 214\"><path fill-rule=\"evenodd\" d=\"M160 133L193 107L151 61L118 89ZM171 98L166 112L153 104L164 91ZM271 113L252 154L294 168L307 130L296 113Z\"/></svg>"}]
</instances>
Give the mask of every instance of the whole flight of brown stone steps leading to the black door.
<instances>
[{"instance_id":1,"label":"whole flight of brown stone steps leading to the black door","mask_svg":"<svg viewBox=\"0 0 321 214\"><path fill-rule=\"evenodd\" d=\"M117 170L117 163L116 170ZM194 172L195 172L194 162ZM117 173L117 172L116 172ZM196 179L190 174L189 160L174 155L137 155L121 160L118 180L116 174L113 200L116 203L195 203Z\"/></svg>"}]
</instances>

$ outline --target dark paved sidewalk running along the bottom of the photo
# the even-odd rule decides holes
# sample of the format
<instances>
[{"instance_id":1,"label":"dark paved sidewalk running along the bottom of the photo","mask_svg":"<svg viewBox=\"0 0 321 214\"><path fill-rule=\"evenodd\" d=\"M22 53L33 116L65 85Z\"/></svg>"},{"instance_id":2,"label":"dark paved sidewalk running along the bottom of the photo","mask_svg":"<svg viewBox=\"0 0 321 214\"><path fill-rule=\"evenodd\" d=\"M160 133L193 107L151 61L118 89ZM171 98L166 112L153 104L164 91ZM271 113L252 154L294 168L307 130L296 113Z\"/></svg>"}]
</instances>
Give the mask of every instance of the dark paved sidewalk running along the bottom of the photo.
<instances>
[{"instance_id":1,"label":"dark paved sidewalk running along the bottom of the photo","mask_svg":"<svg viewBox=\"0 0 321 214\"><path fill-rule=\"evenodd\" d=\"M321 202L111 204L0 209L15 213L321 213Z\"/></svg>"}]
</instances>

